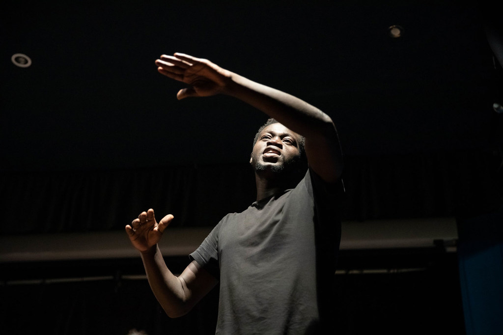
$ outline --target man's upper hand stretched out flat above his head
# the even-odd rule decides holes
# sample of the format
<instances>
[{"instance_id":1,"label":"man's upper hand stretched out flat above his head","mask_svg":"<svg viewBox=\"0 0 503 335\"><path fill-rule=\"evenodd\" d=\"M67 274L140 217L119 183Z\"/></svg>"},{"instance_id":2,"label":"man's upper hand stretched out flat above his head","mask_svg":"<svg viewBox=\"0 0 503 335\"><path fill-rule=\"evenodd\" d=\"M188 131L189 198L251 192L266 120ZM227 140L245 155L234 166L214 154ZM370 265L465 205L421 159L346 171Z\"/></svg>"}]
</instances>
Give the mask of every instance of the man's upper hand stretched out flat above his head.
<instances>
[{"instance_id":1,"label":"man's upper hand stretched out flat above his head","mask_svg":"<svg viewBox=\"0 0 503 335\"><path fill-rule=\"evenodd\" d=\"M178 92L177 98L208 97L225 91L231 72L207 59L183 53L174 56L162 55L155 61L157 70L166 77L182 81L190 88Z\"/></svg>"}]
</instances>

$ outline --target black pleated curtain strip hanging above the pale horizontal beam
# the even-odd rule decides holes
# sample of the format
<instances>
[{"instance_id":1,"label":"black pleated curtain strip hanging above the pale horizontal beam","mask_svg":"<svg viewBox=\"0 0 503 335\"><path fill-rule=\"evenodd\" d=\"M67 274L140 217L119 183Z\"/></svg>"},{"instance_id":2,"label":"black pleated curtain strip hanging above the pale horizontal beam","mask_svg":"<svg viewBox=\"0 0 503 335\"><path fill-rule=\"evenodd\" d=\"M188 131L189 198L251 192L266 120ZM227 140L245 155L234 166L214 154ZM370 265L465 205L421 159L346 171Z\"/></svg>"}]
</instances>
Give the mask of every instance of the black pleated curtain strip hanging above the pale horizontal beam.
<instances>
[{"instance_id":1,"label":"black pleated curtain strip hanging above the pale horizontal beam","mask_svg":"<svg viewBox=\"0 0 503 335\"><path fill-rule=\"evenodd\" d=\"M497 208L500 157L488 150L346 157L344 220L463 216ZM141 211L214 226L255 201L249 164L3 172L0 233L124 229Z\"/></svg>"}]
</instances>

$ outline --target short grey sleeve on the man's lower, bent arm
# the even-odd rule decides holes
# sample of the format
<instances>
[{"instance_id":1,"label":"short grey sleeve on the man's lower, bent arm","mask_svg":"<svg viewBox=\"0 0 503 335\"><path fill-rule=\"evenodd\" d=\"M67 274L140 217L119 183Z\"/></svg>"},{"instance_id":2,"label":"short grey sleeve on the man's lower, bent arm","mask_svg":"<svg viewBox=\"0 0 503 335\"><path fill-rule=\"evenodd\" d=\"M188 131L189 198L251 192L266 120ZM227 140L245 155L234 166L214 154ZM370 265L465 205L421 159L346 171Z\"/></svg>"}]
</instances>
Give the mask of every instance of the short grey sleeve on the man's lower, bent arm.
<instances>
[{"instance_id":1,"label":"short grey sleeve on the man's lower, bent arm","mask_svg":"<svg viewBox=\"0 0 503 335\"><path fill-rule=\"evenodd\" d=\"M218 264L218 235L222 221L220 221L209 233L209 235L206 236L195 252L189 255L191 261L196 261L217 280L220 280L220 266Z\"/></svg>"}]
</instances>

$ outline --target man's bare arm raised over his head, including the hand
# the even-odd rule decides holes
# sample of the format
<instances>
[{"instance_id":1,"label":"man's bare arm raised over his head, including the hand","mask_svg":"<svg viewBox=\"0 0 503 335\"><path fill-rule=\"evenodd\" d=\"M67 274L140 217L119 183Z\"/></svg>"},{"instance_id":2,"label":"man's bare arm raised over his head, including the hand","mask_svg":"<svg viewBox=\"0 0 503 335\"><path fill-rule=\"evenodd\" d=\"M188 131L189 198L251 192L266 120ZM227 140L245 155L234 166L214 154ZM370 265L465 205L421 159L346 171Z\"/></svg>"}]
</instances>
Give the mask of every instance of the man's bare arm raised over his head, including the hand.
<instances>
[{"instance_id":1,"label":"man's bare arm raised over his head, including the hand","mask_svg":"<svg viewBox=\"0 0 503 335\"><path fill-rule=\"evenodd\" d=\"M343 159L331 118L303 100L225 70L207 59L175 53L155 61L158 71L190 87L178 99L225 94L240 99L305 137L309 166L324 181L335 182Z\"/></svg>"}]
</instances>

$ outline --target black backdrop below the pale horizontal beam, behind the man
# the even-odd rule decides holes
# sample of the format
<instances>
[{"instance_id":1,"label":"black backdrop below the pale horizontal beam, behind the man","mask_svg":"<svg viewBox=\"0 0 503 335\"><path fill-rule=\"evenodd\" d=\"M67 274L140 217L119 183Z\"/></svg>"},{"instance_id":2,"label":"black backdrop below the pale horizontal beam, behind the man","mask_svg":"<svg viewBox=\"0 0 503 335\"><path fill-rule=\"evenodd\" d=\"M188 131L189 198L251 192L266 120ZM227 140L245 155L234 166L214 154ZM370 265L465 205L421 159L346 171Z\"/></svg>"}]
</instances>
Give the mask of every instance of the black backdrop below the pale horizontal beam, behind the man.
<instances>
[{"instance_id":1,"label":"black backdrop below the pale horizontal beam, behind the man","mask_svg":"<svg viewBox=\"0 0 503 335\"><path fill-rule=\"evenodd\" d=\"M176 272L187 258L166 262ZM464 333L455 253L441 248L343 250L339 269L333 322L340 334ZM131 279L144 274L139 259L3 264L0 273L0 320L10 334L215 331L217 289L189 314L170 319L147 281ZM46 281L28 284L20 279Z\"/></svg>"}]
</instances>

